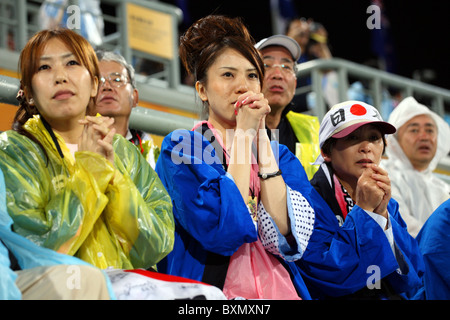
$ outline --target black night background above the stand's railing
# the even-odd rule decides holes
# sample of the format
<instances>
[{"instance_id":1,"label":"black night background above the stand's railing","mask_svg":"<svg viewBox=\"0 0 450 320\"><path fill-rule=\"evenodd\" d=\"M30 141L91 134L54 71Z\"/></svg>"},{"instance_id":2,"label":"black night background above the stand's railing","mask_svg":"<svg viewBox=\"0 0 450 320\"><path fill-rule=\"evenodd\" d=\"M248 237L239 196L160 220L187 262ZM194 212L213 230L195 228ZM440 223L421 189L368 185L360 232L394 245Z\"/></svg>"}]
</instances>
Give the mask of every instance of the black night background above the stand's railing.
<instances>
[{"instance_id":1,"label":"black night background above the stand's railing","mask_svg":"<svg viewBox=\"0 0 450 320\"><path fill-rule=\"evenodd\" d=\"M178 5L177 0L161 2ZM187 3L180 34L195 20L208 14L240 16L256 41L272 35L269 0L191 0ZM370 0L294 0L298 17L313 18L328 31L333 56L365 63L376 55L372 51L371 30L366 21ZM387 35L392 73L413 78L417 70L431 70L431 78L421 78L450 89L450 1L384 0L389 21ZM416 72L417 74L417 72ZM423 74L423 73L422 73Z\"/></svg>"}]
</instances>

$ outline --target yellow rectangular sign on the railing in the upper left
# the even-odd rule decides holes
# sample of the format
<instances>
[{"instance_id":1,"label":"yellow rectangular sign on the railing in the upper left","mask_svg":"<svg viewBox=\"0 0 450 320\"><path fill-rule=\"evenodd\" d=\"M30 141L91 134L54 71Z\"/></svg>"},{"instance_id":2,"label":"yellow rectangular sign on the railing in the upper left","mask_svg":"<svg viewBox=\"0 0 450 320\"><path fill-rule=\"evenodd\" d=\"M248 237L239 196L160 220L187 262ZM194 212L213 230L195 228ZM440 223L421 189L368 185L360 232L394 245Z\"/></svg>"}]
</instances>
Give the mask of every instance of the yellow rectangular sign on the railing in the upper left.
<instances>
[{"instance_id":1,"label":"yellow rectangular sign on the railing in the upper left","mask_svg":"<svg viewBox=\"0 0 450 320\"><path fill-rule=\"evenodd\" d=\"M127 4L128 45L165 59L173 59L171 15Z\"/></svg>"}]
</instances>

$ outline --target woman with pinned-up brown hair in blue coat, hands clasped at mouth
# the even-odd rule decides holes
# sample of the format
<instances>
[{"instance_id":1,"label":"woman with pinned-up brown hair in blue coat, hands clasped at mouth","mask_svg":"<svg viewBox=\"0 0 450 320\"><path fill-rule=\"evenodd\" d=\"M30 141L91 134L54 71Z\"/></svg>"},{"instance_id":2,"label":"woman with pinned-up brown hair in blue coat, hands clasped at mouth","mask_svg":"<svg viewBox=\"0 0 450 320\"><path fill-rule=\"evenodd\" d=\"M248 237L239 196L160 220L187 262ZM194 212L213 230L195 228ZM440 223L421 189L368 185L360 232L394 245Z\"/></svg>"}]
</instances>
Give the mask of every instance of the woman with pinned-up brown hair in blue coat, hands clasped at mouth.
<instances>
[{"instance_id":1,"label":"woman with pinned-up brown hair in blue coat, hands clasped at mouth","mask_svg":"<svg viewBox=\"0 0 450 320\"><path fill-rule=\"evenodd\" d=\"M301 257L314 212L289 183L300 163L267 137L254 41L240 20L222 16L200 19L180 40L208 120L162 143L156 171L173 200L176 235L158 269L228 298L309 298L301 277L292 282L275 258Z\"/></svg>"}]
</instances>

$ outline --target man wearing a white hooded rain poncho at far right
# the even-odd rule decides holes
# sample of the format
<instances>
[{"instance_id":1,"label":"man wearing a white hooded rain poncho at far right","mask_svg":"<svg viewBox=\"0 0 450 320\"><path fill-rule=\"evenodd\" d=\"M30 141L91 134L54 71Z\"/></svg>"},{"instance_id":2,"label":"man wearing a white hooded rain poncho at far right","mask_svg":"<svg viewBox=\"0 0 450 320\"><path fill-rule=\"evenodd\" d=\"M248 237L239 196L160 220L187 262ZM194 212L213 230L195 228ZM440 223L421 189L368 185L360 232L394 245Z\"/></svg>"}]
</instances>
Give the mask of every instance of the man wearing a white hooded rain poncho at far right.
<instances>
[{"instance_id":1,"label":"man wearing a white hooded rain poncho at far right","mask_svg":"<svg viewBox=\"0 0 450 320\"><path fill-rule=\"evenodd\" d=\"M381 162L391 177L408 231L416 236L431 213L450 198L450 186L433 171L450 151L448 124L413 97L405 98L389 120L397 133L387 138Z\"/></svg>"}]
</instances>

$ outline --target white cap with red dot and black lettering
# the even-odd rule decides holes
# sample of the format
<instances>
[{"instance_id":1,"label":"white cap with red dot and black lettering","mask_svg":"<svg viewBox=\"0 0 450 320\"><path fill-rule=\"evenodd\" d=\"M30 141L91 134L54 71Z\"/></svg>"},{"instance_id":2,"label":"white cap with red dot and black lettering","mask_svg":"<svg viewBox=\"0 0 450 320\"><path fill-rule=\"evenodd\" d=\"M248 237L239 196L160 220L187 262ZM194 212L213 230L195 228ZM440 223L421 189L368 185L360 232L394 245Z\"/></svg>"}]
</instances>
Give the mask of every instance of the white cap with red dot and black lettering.
<instances>
[{"instance_id":1,"label":"white cap with red dot and black lettering","mask_svg":"<svg viewBox=\"0 0 450 320\"><path fill-rule=\"evenodd\" d=\"M329 138L344 138L369 123L376 125L383 134L392 134L396 131L393 125L383 121L378 110L370 104L362 101L345 101L334 105L325 114L320 124L320 148ZM319 156L315 164L322 162L322 156Z\"/></svg>"}]
</instances>

